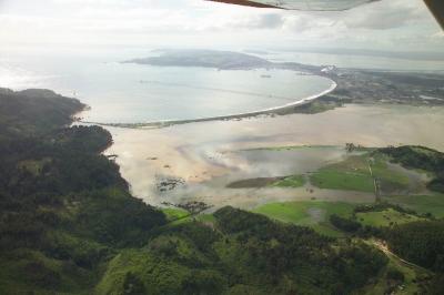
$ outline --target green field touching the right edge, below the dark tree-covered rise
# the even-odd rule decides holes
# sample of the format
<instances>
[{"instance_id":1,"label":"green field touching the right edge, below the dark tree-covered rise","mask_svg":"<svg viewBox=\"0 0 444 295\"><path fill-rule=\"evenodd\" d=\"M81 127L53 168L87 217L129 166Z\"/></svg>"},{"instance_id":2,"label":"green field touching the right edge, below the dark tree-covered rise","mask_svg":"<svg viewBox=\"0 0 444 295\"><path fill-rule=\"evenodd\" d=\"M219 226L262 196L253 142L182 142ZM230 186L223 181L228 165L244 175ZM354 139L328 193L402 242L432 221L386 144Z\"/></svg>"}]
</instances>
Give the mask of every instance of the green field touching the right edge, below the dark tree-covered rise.
<instances>
[{"instance_id":1,"label":"green field touching the right edge, below the dark tree-covered rise","mask_svg":"<svg viewBox=\"0 0 444 295\"><path fill-rule=\"evenodd\" d=\"M384 196L383 200L417 213L431 213L437 218L444 217L444 194Z\"/></svg>"}]
</instances>

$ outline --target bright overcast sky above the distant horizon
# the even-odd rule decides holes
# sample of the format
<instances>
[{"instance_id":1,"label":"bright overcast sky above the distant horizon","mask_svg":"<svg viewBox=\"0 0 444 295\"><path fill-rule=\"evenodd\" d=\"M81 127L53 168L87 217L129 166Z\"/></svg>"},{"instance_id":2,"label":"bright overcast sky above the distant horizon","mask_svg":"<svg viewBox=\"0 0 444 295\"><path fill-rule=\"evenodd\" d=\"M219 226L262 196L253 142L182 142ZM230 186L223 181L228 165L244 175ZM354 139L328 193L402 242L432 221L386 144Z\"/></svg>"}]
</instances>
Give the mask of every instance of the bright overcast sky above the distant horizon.
<instances>
[{"instance_id":1,"label":"bright overcast sky above the distant horizon","mask_svg":"<svg viewBox=\"0 0 444 295\"><path fill-rule=\"evenodd\" d=\"M421 0L344 12L253 9L201 0L0 0L7 47L359 48L444 52Z\"/></svg>"}]
</instances>

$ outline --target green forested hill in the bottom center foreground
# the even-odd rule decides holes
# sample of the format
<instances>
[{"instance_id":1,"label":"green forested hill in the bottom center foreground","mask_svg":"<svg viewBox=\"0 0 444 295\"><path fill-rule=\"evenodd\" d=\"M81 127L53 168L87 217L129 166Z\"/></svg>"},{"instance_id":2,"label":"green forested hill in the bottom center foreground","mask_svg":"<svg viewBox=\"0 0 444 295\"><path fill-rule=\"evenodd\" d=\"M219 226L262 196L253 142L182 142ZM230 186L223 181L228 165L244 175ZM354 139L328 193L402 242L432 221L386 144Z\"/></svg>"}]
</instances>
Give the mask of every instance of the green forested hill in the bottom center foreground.
<instances>
[{"instance_id":1,"label":"green forested hill in the bottom center foreground","mask_svg":"<svg viewBox=\"0 0 444 295\"><path fill-rule=\"evenodd\" d=\"M100 294L351 294L387 264L361 242L275 223L233 207L168 226L145 247L115 256Z\"/></svg>"}]
</instances>

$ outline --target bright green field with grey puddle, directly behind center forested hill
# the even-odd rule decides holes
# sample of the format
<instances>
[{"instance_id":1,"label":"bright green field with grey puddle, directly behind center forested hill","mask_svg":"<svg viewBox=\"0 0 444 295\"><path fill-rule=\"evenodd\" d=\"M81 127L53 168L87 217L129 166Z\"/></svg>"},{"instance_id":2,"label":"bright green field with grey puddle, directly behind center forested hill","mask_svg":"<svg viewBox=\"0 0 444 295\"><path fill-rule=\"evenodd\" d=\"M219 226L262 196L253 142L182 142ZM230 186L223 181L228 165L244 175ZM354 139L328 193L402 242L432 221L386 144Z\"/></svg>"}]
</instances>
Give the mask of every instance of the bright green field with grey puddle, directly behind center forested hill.
<instances>
[{"instance_id":1,"label":"bright green field with grey puddle, directly behind center forested hill","mask_svg":"<svg viewBox=\"0 0 444 295\"><path fill-rule=\"evenodd\" d=\"M270 203L256 207L253 212L281 222L310 226L325 235L342 236L342 233L329 222L329 217L332 214L350 217L354 205L349 203L303 201Z\"/></svg>"}]
</instances>

